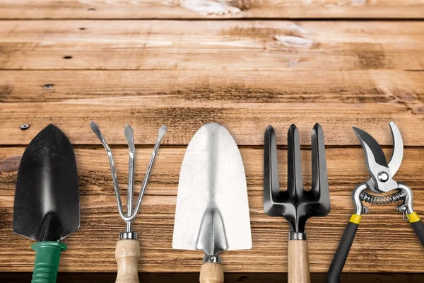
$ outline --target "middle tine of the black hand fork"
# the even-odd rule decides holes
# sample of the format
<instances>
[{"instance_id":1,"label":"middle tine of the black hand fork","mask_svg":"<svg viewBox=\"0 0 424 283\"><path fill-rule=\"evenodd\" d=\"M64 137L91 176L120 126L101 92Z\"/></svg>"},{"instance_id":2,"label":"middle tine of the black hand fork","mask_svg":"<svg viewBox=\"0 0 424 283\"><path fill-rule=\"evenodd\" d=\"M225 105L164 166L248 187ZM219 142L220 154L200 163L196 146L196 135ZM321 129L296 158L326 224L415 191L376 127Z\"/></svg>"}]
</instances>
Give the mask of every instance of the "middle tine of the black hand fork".
<instances>
[{"instance_id":1,"label":"middle tine of the black hand fork","mask_svg":"<svg viewBox=\"0 0 424 283\"><path fill-rule=\"evenodd\" d=\"M287 137L287 192L290 195L302 195L302 158L300 156L300 137L298 128L292 124L288 129Z\"/></svg>"}]
</instances>

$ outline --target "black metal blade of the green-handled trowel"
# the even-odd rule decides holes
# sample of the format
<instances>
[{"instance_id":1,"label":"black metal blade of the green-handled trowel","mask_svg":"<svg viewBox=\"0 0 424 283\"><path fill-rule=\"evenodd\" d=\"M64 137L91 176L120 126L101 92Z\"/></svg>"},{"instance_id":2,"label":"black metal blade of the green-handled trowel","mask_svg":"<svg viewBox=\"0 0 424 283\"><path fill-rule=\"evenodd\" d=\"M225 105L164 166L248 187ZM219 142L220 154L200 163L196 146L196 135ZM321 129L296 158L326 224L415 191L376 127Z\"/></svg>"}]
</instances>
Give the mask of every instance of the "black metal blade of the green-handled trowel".
<instances>
[{"instance_id":1,"label":"black metal blade of the green-handled trowel","mask_svg":"<svg viewBox=\"0 0 424 283\"><path fill-rule=\"evenodd\" d=\"M79 225L75 155L65 134L50 124L30 142L20 161L13 232L35 241L58 241Z\"/></svg>"}]
</instances>

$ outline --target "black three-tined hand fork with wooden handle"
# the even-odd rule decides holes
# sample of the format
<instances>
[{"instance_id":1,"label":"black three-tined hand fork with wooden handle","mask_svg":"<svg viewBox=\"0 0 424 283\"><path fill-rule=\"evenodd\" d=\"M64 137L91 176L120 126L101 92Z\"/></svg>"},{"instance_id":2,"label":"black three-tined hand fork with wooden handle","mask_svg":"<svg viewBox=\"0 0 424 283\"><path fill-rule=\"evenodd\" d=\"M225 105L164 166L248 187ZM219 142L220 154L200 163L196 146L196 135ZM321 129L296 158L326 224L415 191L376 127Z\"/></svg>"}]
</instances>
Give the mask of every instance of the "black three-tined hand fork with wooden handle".
<instances>
[{"instance_id":1,"label":"black three-tined hand fork with wooden handle","mask_svg":"<svg viewBox=\"0 0 424 283\"><path fill-rule=\"evenodd\" d=\"M309 283L309 255L305 224L311 216L330 212L329 183L326 170L324 133L319 124L312 129L312 190L302 182L299 131L288 129L288 187L281 191L278 182L276 132L265 132L264 211L269 216L283 216L290 225L288 236L288 283Z\"/></svg>"}]
</instances>

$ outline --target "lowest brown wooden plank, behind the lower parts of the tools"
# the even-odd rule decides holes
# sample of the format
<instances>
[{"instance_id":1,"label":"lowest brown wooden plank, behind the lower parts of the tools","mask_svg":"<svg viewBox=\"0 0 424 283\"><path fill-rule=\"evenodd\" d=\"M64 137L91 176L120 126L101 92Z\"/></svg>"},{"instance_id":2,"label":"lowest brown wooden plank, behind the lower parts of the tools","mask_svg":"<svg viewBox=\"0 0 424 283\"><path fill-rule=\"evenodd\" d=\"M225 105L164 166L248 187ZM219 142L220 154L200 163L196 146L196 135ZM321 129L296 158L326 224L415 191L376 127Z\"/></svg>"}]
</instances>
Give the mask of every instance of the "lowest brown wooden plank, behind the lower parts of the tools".
<instances>
[{"instance_id":1,"label":"lowest brown wooden plank, behind the lower parts of the tools","mask_svg":"<svg viewBox=\"0 0 424 283\"><path fill-rule=\"evenodd\" d=\"M332 202L336 202L335 197L333 194ZM418 190L416 198L423 200L424 194ZM346 202L348 200L349 197L346 197ZM254 248L223 253L225 270L287 272L287 222L264 215L260 195L249 195L249 201ZM0 202L0 271L29 272L33 268L34 253L30 250L32 242L11 231L13 197L1 197ZM60 270L114 272L114 246L118 232L124 229L124 222L117 214L114 196L82 196L81 204L81 228L64 240L69 250L61 257ZM418 202L416 207L422 211L423 202ZM171 248L174 212L175 197L146 196L141 213L134 223L141 242L140 272L199 272L203 258L201 252ZM333 209L325 218L308 221L306 233L312 272L328 270L351 213L352 204L349 209ZM408 272L413 269L415 272L424 272L423 253L423 247L410 224L403 221L401 214L391 207L389 213L374 213L363 217L344 270ZM408 262L398 260L399 254L407 256Z\"/></svg>"}]
</instances>

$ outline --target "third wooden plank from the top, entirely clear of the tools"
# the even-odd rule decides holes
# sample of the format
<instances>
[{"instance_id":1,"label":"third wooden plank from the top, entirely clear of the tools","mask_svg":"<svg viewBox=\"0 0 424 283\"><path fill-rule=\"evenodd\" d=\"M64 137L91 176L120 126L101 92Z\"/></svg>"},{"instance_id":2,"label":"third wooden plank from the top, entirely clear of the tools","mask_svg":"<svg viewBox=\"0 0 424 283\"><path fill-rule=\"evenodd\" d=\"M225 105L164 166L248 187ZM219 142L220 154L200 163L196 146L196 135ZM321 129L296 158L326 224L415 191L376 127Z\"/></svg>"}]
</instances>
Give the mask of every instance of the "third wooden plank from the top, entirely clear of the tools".
<instances>
[{"instance_id":1,"label":"third wooden plank from the top, entirely clear of the tools","mask_svg":"<svg viewBox=\"0 0 424 283\"><path fill-rule=\"evenodd\" d=\"M192 103L390 103L423 111L423 72L401 70L0 71L0 101L172 96ZM183 101L186 100L184 103ZM191 103L190 103L191 102Z\"/></svg>"}]
</instances>

